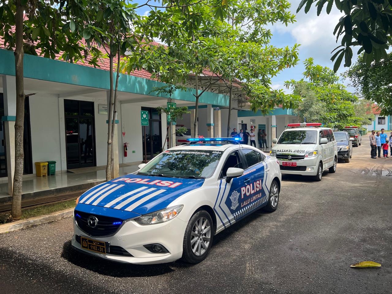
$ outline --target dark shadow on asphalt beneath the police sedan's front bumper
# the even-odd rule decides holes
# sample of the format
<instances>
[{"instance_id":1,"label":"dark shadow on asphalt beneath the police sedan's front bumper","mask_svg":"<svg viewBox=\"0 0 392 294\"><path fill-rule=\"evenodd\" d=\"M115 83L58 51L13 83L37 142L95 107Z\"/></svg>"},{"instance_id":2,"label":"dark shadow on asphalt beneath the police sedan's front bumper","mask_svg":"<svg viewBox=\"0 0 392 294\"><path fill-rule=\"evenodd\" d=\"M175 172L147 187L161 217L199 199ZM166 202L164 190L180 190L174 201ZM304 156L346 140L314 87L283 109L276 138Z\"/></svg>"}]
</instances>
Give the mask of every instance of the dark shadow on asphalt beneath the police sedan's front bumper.
<instances>
[{"instance_id":1,"label":"dark shadow on asphalt beneath the police sedan's front bumper","mask_svg":"<svg viewBox=\"0 0 392 294\"><path fill-rule=\"evenodd\" d=\"M64 243L61 257L83 269L116 278L160 276L173 271L169 266L172 263L132 265L86 255L72 249L71 240Z\"/></svg>"}]
</instances>

